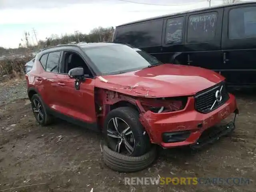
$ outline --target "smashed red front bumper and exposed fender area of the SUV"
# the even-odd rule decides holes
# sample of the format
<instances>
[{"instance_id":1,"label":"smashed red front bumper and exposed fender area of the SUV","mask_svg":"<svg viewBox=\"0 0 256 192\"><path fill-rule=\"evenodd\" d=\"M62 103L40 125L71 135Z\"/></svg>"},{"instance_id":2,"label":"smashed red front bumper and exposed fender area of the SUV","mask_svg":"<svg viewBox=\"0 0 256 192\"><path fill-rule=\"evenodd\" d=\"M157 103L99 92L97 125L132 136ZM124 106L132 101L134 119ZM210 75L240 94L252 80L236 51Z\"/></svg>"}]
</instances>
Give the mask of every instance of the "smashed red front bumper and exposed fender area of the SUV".
<instances>
[{"instance_id":1,"label":"smashed red front bumper and exposed fender area of the SUV","mask_svg":"<svg viewBox=\"0 0 256 192\"><path fill-rule=\"evenodd\" d=\"M229 99L217 109L200 113L195 110L194 96L147 98L146 96L130 96L120 92L98 88L96 90L96 111L98 123L104 125L104 118L114 108L129 106L137 110L139 120L145 128L151 143L163 148L194 145L198 148L204 145L204 135L214 126L227 120L231 114L237 114L236 100L232 94ZM235 120L235 118L234 118ZM226 128L226 129L225 129ZM219 138L234 130L234 123L226 124L215 135L207 138ZM210 138L210 139L209 139ZM212 139L213 141L214 139Z\"/></svg>"}]
</instances>

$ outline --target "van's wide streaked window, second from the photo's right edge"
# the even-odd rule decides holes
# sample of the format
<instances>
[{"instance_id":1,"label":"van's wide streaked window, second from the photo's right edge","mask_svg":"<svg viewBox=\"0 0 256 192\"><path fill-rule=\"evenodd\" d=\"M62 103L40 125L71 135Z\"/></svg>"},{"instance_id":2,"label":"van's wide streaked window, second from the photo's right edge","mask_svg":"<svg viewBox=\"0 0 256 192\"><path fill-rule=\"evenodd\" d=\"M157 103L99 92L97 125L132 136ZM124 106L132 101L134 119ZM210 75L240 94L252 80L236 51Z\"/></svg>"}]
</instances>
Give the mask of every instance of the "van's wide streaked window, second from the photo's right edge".
<instances>
[{"instance_id":1,"label":"van's wide streaked window, second from the photo's right edge","mask_svg":"<svg viewBox=\"0 0 256 192\"><path fill-rule=\"evenodd\" d=\"M208 12L188 18L188 43L209 42L214 39L218 13Z\"/></svg>"}]
</instances>

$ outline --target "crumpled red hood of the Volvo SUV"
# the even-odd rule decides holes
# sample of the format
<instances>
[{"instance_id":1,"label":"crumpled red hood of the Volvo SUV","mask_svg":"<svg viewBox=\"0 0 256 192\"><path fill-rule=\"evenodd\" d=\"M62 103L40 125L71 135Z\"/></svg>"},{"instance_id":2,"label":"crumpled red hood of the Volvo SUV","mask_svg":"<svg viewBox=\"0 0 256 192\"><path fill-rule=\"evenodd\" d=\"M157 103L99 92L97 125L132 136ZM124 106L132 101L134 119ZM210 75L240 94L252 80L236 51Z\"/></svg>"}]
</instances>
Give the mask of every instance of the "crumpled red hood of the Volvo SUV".
<instances>
[{"instance_id":1,"label":"crumpled red hood of the Volvo SUV","mask_svg":"<svg viewBox=\"0 0 256 192\"><path fill-rule=\"evenodd\" d=\"M98 77L95 86L132 96L155 98L191 96L223 80L220 74L204 68L162 64Z\"/></svg>"}]
</instances>

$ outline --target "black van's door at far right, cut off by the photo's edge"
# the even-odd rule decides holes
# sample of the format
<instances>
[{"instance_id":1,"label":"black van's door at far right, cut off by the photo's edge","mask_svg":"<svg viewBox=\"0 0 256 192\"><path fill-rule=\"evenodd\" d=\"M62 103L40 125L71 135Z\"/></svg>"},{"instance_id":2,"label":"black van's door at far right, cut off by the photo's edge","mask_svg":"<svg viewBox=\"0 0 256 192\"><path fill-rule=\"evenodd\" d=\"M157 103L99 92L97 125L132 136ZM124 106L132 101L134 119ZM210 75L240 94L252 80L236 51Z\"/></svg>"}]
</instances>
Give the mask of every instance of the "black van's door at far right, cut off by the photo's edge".
<instances>
[{"instance_id":1,"label":"black van's door at far right, cut off by the photo's edge","mask_svg":"<svg viewBox=\"0 0 256 192\"><path fill-rule=\"evenodd\" d=\"M224 8L222 50L228 82L256 85L256 4Z\"/></svg>"}]
</instances>

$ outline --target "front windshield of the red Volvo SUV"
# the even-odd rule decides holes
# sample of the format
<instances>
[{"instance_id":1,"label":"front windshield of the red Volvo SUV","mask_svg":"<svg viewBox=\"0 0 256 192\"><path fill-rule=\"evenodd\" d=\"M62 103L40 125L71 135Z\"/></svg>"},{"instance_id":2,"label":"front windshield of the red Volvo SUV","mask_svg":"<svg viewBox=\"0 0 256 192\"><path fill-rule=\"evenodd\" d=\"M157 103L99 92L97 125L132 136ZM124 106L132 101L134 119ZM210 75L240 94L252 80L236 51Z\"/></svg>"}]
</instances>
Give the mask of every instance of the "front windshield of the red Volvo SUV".
<instances>
[{"instance_id":1,"label":"front windshield of the red Volvo SUV","mask_svg":"<svg viewBox=\"0 0 256 192\"><path fill-rule=\"evenodd\" d=\"M101 75L120 74L162 64L146 52L122 44L84 48L84 52Z\"/></svg>"}]
</instances>

